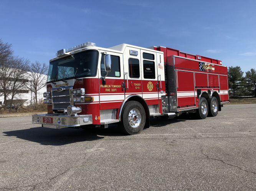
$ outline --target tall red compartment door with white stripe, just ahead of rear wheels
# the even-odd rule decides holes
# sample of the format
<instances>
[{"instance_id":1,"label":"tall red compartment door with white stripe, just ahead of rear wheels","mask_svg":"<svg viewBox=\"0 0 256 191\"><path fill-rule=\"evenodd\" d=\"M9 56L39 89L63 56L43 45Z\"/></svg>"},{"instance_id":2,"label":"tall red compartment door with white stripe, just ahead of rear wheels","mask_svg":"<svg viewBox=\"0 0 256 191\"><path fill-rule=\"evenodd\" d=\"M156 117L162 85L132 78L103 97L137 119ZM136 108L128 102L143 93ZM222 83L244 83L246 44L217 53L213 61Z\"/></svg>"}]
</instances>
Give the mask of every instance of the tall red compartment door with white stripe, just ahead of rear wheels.
<instances>
[{"instance_id":1,"label":"tall red compartment door with white stripe, just ahead of rear wheels","mask_svg":"<svg viewBox=\"0 0 256 191\"><path fill-rule=\"evenodd\" d=\"M195 106L194 73L176 70L177 108Z\"/></svg>"}]
</instances>

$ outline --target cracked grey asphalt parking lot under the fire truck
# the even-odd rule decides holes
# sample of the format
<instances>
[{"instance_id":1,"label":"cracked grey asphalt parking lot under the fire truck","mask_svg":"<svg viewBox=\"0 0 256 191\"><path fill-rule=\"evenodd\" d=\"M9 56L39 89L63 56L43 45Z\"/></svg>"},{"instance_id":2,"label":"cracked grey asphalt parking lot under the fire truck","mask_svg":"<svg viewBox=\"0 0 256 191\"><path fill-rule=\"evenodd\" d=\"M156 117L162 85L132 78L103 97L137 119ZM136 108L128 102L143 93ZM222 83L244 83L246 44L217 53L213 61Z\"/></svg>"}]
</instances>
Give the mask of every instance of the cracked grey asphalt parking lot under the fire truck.
<instances>
[{"instance_id":1,"label":"cracked grey asphalt parking lot under the fire truck","mask_svg":"<svg viewBox=\"0 0 256 191\"><path fill-rule=\"evenodd\" d=\"M0 190L256 190L256 104L152 118L134 136L0 118Z\"/></svg>"}]
</instances>

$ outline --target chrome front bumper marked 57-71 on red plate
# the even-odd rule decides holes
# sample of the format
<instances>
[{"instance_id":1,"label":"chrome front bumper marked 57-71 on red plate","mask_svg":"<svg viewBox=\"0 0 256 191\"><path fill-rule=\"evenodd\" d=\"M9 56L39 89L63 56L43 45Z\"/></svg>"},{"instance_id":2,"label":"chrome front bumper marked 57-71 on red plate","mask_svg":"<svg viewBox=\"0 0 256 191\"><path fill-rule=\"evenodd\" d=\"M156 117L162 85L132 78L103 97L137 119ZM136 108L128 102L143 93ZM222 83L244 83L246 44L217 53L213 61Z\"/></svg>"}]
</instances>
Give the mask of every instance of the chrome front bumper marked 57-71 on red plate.
<instances>
[{"instance_id":1,"label":"chrome front bumper marked 57-71 on red plate","mask_svg":"<svg viewBox=\"0 0 256 191\"><path fill-rule=\"evenodd\" d=\"M53 123L45 123L44 117L52 118ZM69 116L68 114L37 114L32 115L32 123L42 124L44 127L48 128L64 128L64 127L79 127L82 125L92 124L92 115L76 115Z\"/></svg>"}]
</instances>

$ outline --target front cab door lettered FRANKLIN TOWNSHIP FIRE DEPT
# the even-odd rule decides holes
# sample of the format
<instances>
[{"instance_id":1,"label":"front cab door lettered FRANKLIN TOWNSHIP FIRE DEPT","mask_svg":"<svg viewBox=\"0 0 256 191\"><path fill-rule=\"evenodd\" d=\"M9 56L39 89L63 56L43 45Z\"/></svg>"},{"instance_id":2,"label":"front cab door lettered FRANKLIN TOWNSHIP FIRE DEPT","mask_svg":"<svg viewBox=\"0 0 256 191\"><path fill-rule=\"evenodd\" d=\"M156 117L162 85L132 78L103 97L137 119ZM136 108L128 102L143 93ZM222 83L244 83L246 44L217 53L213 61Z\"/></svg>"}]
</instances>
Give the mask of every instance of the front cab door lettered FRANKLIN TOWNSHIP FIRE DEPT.
<instances>
[{"instance_id":1,"label":"front cab door lettered FRANKLIN TOWNSHIP FIRE DEPT","mask_svg":"<svg viewBox=\"0 0 256 191\"><path fill-rule=\"evenodd\" d=\"M99 66L99 97L100 110L120 108L124 101L124 83L122 54L115 52L101 52L101 64ZM111 55L112 71L107 74L104 68L104 53ZM106 76L107 74L107 76ZM106 84L102 84L102 78L106 76Z\"/></svg>"}]
</instances>

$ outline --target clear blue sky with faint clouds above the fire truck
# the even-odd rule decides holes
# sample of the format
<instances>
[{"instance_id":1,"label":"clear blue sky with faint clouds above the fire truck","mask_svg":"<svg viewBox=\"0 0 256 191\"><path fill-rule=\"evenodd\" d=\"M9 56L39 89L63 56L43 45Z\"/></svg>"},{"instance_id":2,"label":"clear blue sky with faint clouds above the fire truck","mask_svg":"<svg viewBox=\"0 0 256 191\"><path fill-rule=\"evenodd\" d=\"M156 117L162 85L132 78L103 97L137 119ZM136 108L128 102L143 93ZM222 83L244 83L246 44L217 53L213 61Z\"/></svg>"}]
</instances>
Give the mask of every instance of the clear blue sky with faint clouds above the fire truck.
<instances>
[{"instance_id":1,"label":"clear blue sky with faint clouds above the fire truck","mask_svg":"<svg viewBox=\"0 0 256 191\"><path fill-rule=\"evenodd\" d=\"M15 55L48 63L84 42L166 46L256 68L256 1L0 1L0 38Z\"/></svg>"}]
</instances>

